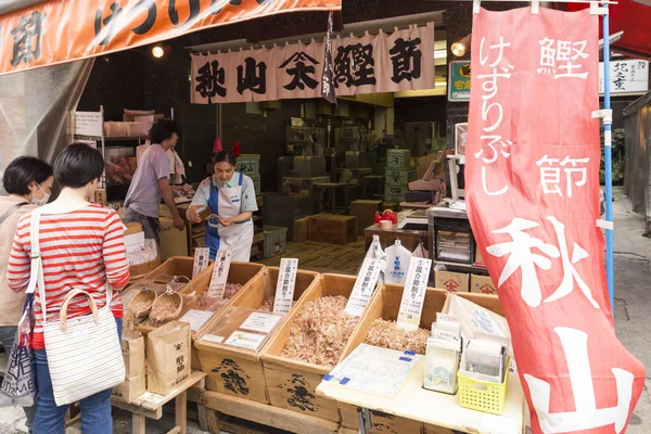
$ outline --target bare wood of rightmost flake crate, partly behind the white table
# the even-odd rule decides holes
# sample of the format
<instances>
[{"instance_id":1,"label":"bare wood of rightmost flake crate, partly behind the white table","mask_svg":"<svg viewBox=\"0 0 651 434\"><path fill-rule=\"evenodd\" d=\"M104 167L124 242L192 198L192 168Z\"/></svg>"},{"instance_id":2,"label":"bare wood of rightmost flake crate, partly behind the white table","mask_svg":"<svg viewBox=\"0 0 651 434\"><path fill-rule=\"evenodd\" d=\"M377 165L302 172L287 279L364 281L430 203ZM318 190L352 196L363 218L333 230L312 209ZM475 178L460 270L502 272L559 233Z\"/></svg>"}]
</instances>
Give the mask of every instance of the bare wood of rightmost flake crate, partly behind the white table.
<instances>
[{"instance_id":1,"label":"bare wood of rightmost flake crate, partly behind the white table","mask_svg":"<svg viewBox=\"0 0 651 434\"><path fill-rule=\"evenodd\" d=\"M348 341L344 348L342 360L346 358L355 348L363 344L366 335L369 332L373 321L378 318L396 321L403 301L404 286L398 284L384 284L361 318L359 327ZM420 327L431 330L432 322L436 321L436 312L443 311L447 301L447 293L443 290L427 288L425 301L421 315ZM423 355L424 356L424 355ZM342 414L342 426L348 430L359 430L357 407L348 404L339 403ZM392 433L392 434L420 434L423 424L414 420L387 414L382 411L371 411L371 430L369 433Z\"/></svg>"}]
</instances>

